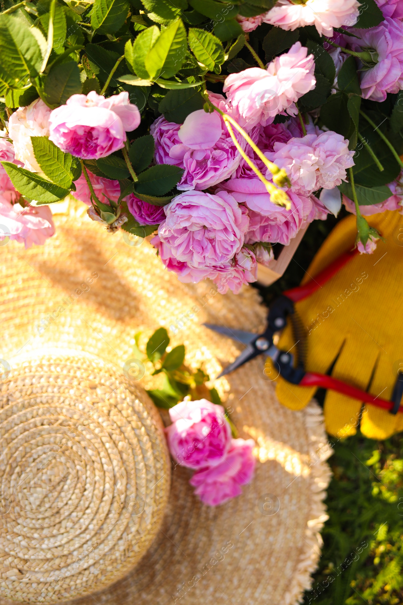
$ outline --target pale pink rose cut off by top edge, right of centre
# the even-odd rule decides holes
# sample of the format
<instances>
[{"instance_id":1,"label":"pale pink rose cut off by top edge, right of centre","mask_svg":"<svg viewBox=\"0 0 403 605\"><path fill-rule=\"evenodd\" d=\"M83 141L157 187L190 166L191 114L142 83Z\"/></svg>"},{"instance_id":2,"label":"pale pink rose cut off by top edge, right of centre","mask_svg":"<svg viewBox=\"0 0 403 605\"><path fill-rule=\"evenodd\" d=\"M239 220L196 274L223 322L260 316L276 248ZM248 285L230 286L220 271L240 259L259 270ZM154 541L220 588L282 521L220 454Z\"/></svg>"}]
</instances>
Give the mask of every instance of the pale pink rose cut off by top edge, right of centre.
<instances>
[{"instance_id":1,"label":"pale pink rose cut off by top edge, right of centre","mask_svg":"<svg viewBox=\"0 0 403 605\"><path fill-rule=\"evenodd\" d=\"M295 4L292 0L278 0L263 21L283 30L315 25L321 36L329 37L333 36L334 27L356 23L359 6L358 0L306 0Z\"/></svg>"}]
</instances>

